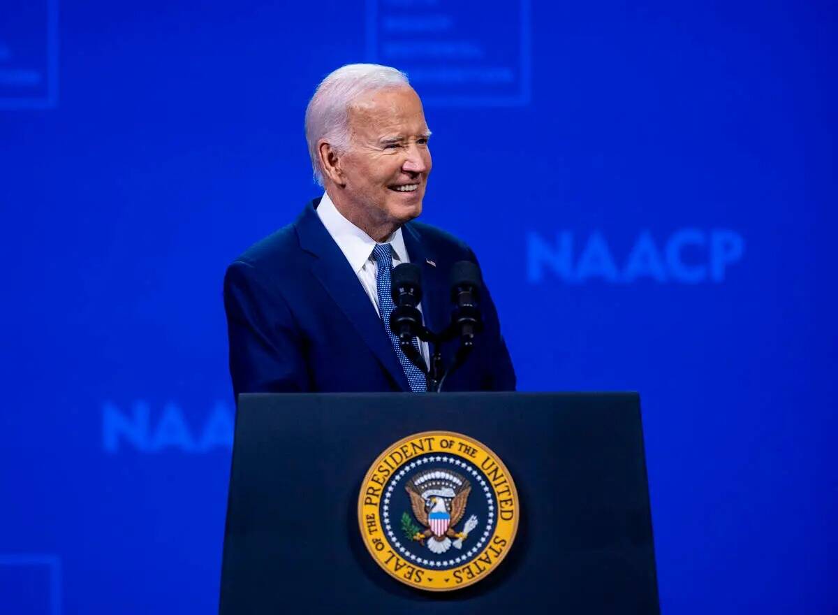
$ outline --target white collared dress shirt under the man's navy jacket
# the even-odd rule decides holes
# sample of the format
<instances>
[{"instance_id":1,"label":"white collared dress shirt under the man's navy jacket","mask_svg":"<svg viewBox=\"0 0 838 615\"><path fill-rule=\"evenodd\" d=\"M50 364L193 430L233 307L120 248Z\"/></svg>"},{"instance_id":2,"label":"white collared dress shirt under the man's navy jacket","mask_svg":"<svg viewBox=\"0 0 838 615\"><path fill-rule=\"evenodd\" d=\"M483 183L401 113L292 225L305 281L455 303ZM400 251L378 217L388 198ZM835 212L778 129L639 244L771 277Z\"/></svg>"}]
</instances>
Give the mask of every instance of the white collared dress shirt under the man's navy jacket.
<instances>
[{"instance_id":1,"label":"white collared dress shirt under the man's navy jacket","mask_svg":"<svg viewBox=\"0 0 838 615\"><path fill-rule=\"evenodd\" d=\"M323 226L326 227L328 234L332 236L334 242L338 244L340 251L344 253L346 260L349 261L349 266L358 276L358 281L364 290L372 305L375 307L376 313L379 317L381 312L378 309L378 284L375 281L375 274L378 273L378 266L375 264L372 250L377 243L375 239L367 235L360 228L356 227L352 222L344 218L343 214L334 206L332 200L327 193L323 193L323 198L320 200L320 205L317 208L317 215ZM393 267L400 263L410 263L411 258L407 254L405 248L405 240L401 237L401 228L396 229L384 243L389 243L393 248ZM419 311L422 311L422 304L417 305ZM425 365L430 364L428 359L429 352L427 348L427 341L419 341L419 348L422 351L422 357L425 359Z\"/></svg>"}]
</instances>

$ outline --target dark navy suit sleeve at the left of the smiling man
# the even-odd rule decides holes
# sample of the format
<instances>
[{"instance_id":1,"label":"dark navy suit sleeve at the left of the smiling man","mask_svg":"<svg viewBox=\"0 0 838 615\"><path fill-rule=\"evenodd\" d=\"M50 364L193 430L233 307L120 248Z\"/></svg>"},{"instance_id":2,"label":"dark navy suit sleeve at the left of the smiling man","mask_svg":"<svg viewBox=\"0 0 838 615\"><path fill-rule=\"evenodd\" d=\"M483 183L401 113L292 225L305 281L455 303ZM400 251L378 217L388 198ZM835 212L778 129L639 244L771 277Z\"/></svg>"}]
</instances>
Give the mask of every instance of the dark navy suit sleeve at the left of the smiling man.
<instances>
[{"instance_id":1,"label":"dark navy suit sleeve at the left of the smiling man","mask_svg":"<svg viewBox=\"0 0 838 615\"><path fill-rule=\"evenodd\" d=\"M249 263L236 261L224 279L233 393L308 391L303 341L278 290L266 289Z\"/></svg>"}]
</instances>

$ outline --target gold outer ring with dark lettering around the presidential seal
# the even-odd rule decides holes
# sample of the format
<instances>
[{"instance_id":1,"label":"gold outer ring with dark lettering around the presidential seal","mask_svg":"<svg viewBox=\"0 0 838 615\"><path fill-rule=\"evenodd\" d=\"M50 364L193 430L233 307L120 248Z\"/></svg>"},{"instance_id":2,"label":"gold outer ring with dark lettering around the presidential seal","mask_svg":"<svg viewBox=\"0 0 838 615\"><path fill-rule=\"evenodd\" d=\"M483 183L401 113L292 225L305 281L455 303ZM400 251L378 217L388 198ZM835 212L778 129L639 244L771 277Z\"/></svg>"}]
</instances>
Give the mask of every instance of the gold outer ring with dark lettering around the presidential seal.
<instances>
[{"instance_id":1,"label":"gold outer ring with dark lettering around the presidential seal","mask_svg":"<svg viewBox=\"0 0 838 615\"><path fill-rule=\"evenodd\" d=\"M487 569L484 574L481 574L480 576L476 576L475 578L473 578L471 580L463 581L459 585L450 586L450 587L422 587L421 585L417 585L416 583L412 583L411 581L407 581L406 579L403 579L395 571L391 571L384 564L384 562L382 562L378 558L378 555L375 554L375 548L371 545L372 541L367 538L366 527L365 527L365 524L364 524L365 487L370 483L371 477L375 473L375 469L378 466L380 466L381 462L384 461L384 459L385 459L385 457L387 456L388 453L391 453L392 451L397 450L398 447L406 444L407 442L410 442L411 440L416 440L417 438L428 437L428 436L435 436L435 437L453 436L455 438L459 438L461 440L465 440L467 442L470 442L470 443L473 443L477 446L480 446L489 456L492 457L492 460L495 463L498 464L501 471L504 472L504 476L507 478L507 480L510 484L510 491L512 493L512 498L515 501L515 508L512 508L512 510L515 511L515 521L513 522L512 530L510 532L509 544L505 545L504 550L501 553L501 555L499 555L498 559L494 561L494 565L492 565L489 569ZM454 456L457 456L457 457L461 458L461 459L465 459L467 461L470 461L471 463L474 463L473 461L471 461L468 458L468 456L463 456L461 453L458 453L458 452L453 452L452 453L451 451L448 451L446 453L446 455L448 455L448 456L451 456L452 454ZM394 470L392 473L395 474L399 469L401 469L402 466L405 466L408 462L409 461L407 459L405 461L403 461L400 465L396 466L396 470ZM474 464L474 465L479 468L478 464ZM483 472L482 469L481 469L481 472ZM485 472L483 472L483 474L485 475ZM392 476L392 474L391 474L391 476ZM388 478L388 481L389 481L389 478ZM491 485L491 487L492 487L492 491L494 492L495 498L499 499L497 490L495 489L494 485L492 485L491 482L489 482L489 485ZM498 506L498 516L499 516L499 514L500 514L500 506ZM399 581L400 583L402 583L406 586L413 587L414 589L420 590L422 592L455 592L458 589L463 589L463 587L468 587L468 586L473 585L474 583L478 583L479 581L483 581L487 576L489 576L492 572L494 572L494 570L505 559L506 555L509 554L510 550L512 549L512 545L515 544L515 536L518 535L519 521L520 521L520 499L518 498L518 489L517 489L517 487L515 487L515 480L512 478L512 474L510 473L509 468L506 467L506 465L504 464L504 461L501 460L500 457L498 456L498 454L495 453L492 449L490 449L489 446L484 445L483 442L481 442L480 440L477 440L476 438L473 438L470 435L461 434L458 431L442 431L442 430L419 431L419 432L416 432L415 434L407 435L406 437L402 438L401 440L398 440L398 441L392 443L391 445L386 446L384 451L382 451L380 453L380 455L375 458L375 461L372 462L372 465L370 466L370 469L366 472L366 474L364 476L364 481L361 482L361 488L360 488L360 492L358 494L358 529L359 529L360 534L361 534L361 540L364 542L364 546L366 547L366 550L368 550L370 552L370 556L375 561L375 564L378 565L389 576L396 579L396 581ZM380 515L379 515L379 523L380 523ZM384 533L383 524L381 525L381 533L386 535ZM493 534L494 534L494 532L493 532ZM388 545L390 545L390 542L389 542L388 539L385 538L384 540L386 541L386 543ZM485 549L484 549L483 552L485 552ZM478 555L475 555L474 559L476 560L477 557L478 557ZM472 561L473 560L469 561L468 564L471 564ZM410 565L412 565L414 568L416 568L418 570L425 571L425 572L428 572L428 573L432 573L432 574L442 573L442 571L440 571L440 570L434 570L432 568L425 568L421 565L414 565L412 562L411 562ZM452 569L452 571L453 571L453 569Z\"/></svg>"}]
</instances>

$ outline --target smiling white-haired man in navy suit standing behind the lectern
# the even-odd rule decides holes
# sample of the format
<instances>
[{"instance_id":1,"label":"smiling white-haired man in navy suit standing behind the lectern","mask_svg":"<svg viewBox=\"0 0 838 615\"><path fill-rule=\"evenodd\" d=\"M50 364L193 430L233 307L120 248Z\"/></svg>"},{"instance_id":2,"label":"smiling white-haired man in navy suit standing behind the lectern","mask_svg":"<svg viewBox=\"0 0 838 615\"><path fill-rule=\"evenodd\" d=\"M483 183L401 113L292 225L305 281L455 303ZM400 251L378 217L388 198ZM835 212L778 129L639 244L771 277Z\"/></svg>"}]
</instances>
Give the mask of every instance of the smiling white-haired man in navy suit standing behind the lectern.
<instances>
[{"instance_id":1,"label":"smiling white-haired man in navy suit standing behind the lectern","mask_svg":"<svg viewBox=\"0 0 838 615\"><path fill-rule=\"evenodd\" d=\"M425 391L386 315L391 268L422 268L423 318L450 318L448 274L472 251L421 222L431 152L422 102L400 71L347 65L318 86L306 110L314 177L325 192L297 221L230 265L225 309L236 393ZM446 390L513 390L515 372L484 289L484 331ZM442 349L453 360L457 341ZM427 344L419 350L428 361Z\"/></svg>"}]
</instances>

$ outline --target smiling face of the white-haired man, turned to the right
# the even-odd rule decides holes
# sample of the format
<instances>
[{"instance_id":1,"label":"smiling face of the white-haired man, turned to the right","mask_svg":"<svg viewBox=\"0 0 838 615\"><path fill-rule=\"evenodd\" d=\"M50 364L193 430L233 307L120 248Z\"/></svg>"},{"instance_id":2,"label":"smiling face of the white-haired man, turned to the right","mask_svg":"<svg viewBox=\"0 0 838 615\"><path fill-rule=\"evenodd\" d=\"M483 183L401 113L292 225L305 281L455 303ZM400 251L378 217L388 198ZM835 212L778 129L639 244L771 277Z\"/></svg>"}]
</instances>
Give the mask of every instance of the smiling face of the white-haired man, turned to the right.
<instances>
[{"instance_id":1,"label":"smiling face of the white-haired man, turned to the right","mask_svg":"<svg viewBox=\"0 0 838 615\"><path fill-rule=\"evenodd\" d=\"M340 157L344 194L376 226L422 213L431 173L429 131L411 87L375 91L349 110L349 152Z\"/></svg>"}]
</instances>

